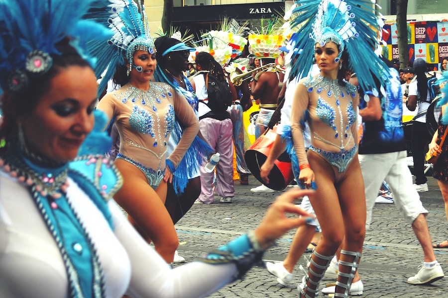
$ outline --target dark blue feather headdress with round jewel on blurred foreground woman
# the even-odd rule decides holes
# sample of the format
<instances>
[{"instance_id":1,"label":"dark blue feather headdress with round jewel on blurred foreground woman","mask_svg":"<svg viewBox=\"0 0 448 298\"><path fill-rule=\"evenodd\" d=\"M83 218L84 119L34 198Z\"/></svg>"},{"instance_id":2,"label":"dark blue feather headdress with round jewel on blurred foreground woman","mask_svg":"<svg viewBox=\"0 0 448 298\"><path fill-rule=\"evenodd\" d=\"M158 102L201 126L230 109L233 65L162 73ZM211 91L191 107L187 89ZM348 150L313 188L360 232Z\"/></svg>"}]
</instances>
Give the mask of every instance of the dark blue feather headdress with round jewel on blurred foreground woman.
<instances>
[{"instance_id":1,"label":"dark blue feather headdress with round jewel on blurred foreground woman","mask_svg":"<svg viewBox=\"0 0 448 298\"><path fill-rule=\"evenodd\" d=\"M107 40L110 30L82 20L93 0L0 0L0 94L26 89L30 76L42 75L60 55L57 44L70 45L92 67L86 43Z\"/></svg>"}]
</instances>

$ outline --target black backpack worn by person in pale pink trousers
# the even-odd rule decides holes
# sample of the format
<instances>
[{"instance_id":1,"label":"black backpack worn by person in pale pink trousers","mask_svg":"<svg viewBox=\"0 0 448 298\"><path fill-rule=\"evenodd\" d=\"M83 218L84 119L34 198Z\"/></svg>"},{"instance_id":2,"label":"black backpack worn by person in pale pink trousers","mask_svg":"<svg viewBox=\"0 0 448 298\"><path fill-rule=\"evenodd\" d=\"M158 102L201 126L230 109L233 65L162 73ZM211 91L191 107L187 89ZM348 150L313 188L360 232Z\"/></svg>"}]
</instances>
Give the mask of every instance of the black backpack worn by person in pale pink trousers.
<instances>
[{"instance_id":1,"label":"black backpack worn by person in pale pink trousers","mask_svg":"<svg viewBox=\"0 0 448 298\"><path fill-rule=\"evenodd\" d=\"M207 106L213 112L224 112L232 104L232 95L227 80L220 81L209 72L203 74L209 94Z\"/></svg>"}]
</instances>

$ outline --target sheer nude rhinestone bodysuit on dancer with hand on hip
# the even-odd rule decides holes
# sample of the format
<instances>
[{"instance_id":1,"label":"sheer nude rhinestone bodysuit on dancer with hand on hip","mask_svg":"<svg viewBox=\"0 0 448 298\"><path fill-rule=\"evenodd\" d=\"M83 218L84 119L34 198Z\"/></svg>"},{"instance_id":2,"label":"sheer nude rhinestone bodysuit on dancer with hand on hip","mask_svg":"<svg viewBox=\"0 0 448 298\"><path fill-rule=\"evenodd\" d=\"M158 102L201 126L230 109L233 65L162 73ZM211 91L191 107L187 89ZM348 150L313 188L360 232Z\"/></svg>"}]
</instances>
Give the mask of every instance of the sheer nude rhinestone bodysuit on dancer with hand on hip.
<instances>
[{"instance_id":1,"label":"sheer nude rhinestone bodysuit on dancer with hand on hip","mask_svg":"<svg viewBox=\"0 0 448 298\"><path fill-rule=\"evenodd\" d=\"M115 117L121 140L117 158L138 167L154 189L165 172L166 150L175 115L185 126L181 141L169 156L175 167L199 129L188 101L165 83L151 82L147 91L126 84L107 100L101 100L98 108L109 117Z\"/></svg>"}]
</instances>

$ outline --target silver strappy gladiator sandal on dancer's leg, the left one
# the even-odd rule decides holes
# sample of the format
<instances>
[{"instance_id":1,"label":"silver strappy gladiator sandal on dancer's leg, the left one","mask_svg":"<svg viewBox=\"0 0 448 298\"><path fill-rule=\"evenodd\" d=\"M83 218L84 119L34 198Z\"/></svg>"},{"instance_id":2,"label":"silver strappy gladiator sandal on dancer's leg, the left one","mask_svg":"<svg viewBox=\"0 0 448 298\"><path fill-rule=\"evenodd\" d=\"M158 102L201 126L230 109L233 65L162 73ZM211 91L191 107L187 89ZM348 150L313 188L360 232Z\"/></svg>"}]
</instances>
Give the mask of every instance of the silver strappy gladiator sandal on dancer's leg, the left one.
<instances>
[{"instance_id":1,"label":"silver strappy gladiator sandal on dancer's leg, the left one","mask_svg":"<svg viewBox=\"0 0 448 298\"><path fill-rule=\"evenodd\" d=\"M317 258L322 261L325 261L326 262L325 265L317 264L313 260L313 256L315 259ZM303 277L302 283L299 285L299 288L301 289L301 291L300 291L301 297L313 298L318 295L319 284L321 283L321 279L324 277L325 271L327 270L328 266L330 266L330 263L332 262L333 257L334 256L323 256L320 253L316 252L316 250L313 250L313 253L311 254L311 264L310 264L310 267L308 267L308 275L305 275ZM311 269L312 266L313 266L314 270ZM319 273L317 273L316 271L318 271ZM317 281L314 281L313 279L311 279L310 276L317 279ZM310 288L310 286L314 286L314 289ZM308 293L313 294L313 297L309 296Z\"/></svg>"}]
</instances>

